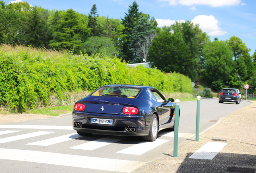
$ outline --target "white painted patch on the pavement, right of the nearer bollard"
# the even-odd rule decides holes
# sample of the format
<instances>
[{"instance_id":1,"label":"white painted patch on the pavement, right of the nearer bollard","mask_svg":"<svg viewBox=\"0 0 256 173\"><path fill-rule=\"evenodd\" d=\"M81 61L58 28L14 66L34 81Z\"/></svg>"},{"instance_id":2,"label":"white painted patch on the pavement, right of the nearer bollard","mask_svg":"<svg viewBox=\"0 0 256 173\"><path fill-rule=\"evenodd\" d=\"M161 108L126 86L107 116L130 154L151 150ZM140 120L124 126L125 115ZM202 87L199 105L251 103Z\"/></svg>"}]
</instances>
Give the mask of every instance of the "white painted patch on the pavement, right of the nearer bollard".
<instances>
[{"instance_id":1,"label":"white painted patch on the pavement, right of the nearer bollard","mask_svg":"<svg viewBox=\"0 0 256 173\"><path fill-rule=\"evenodd\" d=\"M225 145L227 145L227 143L208 142L188 158L212 160Z\"/></svg>"}]
</instances>

